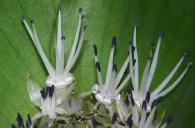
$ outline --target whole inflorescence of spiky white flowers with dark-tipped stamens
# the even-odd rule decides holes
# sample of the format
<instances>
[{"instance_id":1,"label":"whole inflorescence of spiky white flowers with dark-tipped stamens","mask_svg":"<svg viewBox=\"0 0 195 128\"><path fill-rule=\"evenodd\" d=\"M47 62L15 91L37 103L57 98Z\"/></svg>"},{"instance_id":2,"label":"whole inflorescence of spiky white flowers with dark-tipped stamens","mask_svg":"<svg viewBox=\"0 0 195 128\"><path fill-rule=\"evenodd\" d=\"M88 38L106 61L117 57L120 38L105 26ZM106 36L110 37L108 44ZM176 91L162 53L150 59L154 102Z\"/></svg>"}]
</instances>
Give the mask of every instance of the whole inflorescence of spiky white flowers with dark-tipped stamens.
<instances>
[{"instance_id":1,"label":"whole inflorescence of spiky white flowers with dark-tipped stamens","mask_svg":"<svg viewBox=\"0 0 195 128\"><path fill-rule=\"evenodd\" d=\"M34 21L31 21L32 29L24 17L22 18L22 22L47 69L48 77L45 81L45 86L41 89L32 80L31 76L28 76L27 90L31 101L35 106L40 108L40 112L32 118L28 114L26 122L20 113L18 113L16 118L17 125L12 124L12 128L16 128L16 126L20 128L38 128L37 124L44 117L46 117L46 123L43 125L45 128L59 126L76 127L78 124L93 128L98 125L124 128L165 128L170 124L171 118L164 119L164 113L156 118L155 111L162 98L170 93L183 79L192 66L192 62L189 62L180 76L170 86L166 87L187 56L188 52L184 52L165 79L156 86L156 89L153 91L150 90L158 63L163 33L159 33L156 48L147 58L141 79L139 77L136 40L137 25L134 25L133 38L130 41L127 58L119 71L117 71L118 66L114 62L117 38L116 36L112 37L105 80L102 78L102 69L98 60L98 49L94 44L97 83L94 84L89 95L81 97L72 94L75 87L75 78L70 70L79 56L86 33L82 9L79 9L76 35L66 66L64 66L66 39L62 35L61 11L58 11L55 69L41 47ZM129 88L126 87L128 83L132 85L131 90L124 89ZM83 106L88 107L86 109Z\"/></svg>"}]
</instances>

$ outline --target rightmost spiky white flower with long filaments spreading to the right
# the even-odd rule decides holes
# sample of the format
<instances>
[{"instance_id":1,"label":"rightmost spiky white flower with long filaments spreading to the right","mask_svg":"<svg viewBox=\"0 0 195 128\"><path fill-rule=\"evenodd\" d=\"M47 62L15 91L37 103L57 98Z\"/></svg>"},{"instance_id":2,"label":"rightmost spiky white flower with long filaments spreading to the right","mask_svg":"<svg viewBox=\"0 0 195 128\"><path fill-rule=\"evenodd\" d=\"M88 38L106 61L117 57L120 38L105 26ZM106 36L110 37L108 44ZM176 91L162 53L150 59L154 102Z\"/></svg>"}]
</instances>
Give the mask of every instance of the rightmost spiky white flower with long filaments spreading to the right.
<instances>
[{"instance_id":1,"label":"rightmost spiky white flower with long filaments spreading to the right","mask_svg":"<svg viewBox=\"0 0 195 128\"><path fill-rule=\"evenodd\" d=\"M159 34L157 46L155 48L155 52L153 55L153 59L151 59L151 57L147 59L147 63L146 63L146 66L143 72L142 80L139 83L139 78L138 78L139 63L138 63L137 45L136 45L136 42L137 42L136 41L136 30L137 30L137 26L135 25L134 33L133 33L133 42L130 44L130 48L129 48L129 57L130 57L129 67L130 67L131 81L133 85L132 95L133 95L135 104L138 108L142 108L143 104L146 104L147 106L146 110L151 111L152 103L156 99L166 96L178 85L178 83L183 79L183 77L187 73L188 69L191 67L192 62L189 62L185 70L176 79L176 81L166 88L166 85L170 82L170 80L176 74L184 58L186 57L187 52L184 52L184 54L182 55L178 63L175 65L175 67L172 69L172 71L168 74L168 76L161 82L160 85L157 86L157 88L153 92L151 92L149 89L150 89L153 76L156 70L163 34L162 33Z\"/></svg>"}]
</instances>

